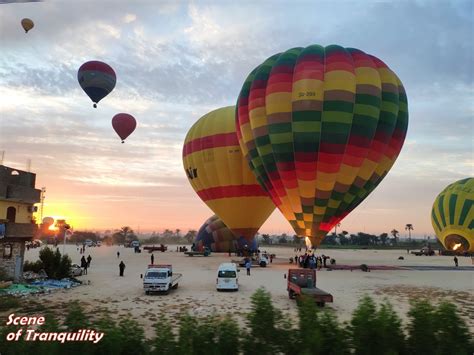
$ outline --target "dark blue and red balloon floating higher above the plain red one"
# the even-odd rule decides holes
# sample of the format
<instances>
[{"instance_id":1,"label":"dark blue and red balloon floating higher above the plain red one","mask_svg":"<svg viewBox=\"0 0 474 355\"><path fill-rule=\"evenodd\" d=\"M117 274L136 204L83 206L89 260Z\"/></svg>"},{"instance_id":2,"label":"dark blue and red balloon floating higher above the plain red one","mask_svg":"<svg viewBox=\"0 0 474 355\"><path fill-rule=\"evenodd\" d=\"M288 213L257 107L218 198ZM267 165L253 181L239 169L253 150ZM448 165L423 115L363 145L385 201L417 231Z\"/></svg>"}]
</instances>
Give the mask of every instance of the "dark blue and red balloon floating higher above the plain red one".
<instances>
[{"instance_id":1,"label":"dark blue and red balloon floating higher above the plain red one","mask_svg":"<svg viewBox=\"0 0 474 355\"><path fill-rule=\"evenodd\" d=\"M94 103L94 107L97 107L97 103L114 89L117 78L111 66L93 60L81 65L77 80Z\"/></svg>"}]
</instances>

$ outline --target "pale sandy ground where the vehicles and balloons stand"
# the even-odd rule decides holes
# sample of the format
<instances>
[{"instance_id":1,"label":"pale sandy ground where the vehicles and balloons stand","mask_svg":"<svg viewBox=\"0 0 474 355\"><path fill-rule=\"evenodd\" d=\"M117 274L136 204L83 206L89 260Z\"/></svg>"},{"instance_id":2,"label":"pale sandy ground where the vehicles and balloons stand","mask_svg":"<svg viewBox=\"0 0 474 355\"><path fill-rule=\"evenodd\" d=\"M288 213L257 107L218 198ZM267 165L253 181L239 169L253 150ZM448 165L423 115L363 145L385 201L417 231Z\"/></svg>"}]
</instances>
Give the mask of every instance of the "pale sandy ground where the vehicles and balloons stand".
<instances>
[{"instance_id":1,"label":"pale sandy ground where the vehicles and balloons stand","mask_svg":"<svg viewBox=\"0 0 474 355\"><path fill-rule=\"evenodd\" d=\"M62 252L63 246L60 246ZM172 264L174 272L182 273L179 288L169 295L145 295L140 274L144 273L150 261L150 254L142 251L135 254L131 248L106 247L87 248L85 256L91 255L92 263L88 275L81 280L90 281L90 285L70 290L59 290L51 294L35 295L36 300L54 307L63 307L64 303L79 300L86 308L106 308L113 315L131 313L145 326L148 335L151 325L161 313L176 319L183 312L194 315L231 314L243 322L243 315L250 308L250 296L259 287L268 290L274 304L290 317L296 315L294 300L288 299L284 274L288 268L288 258L295 255L293 248L263 247L262 250L275 253L277 258L267 268L255 267L251 276L245 269L239 273L238 292L221 293L215 290L217 267L222 262L235 259L227 254L213 253L209 257L188 257L176 252L176 246L170 245L165 253L154 252L155 264ZM116 253L120 251L120 258ZM81 255L75 246L66 246L66 252L73 263L79 263ZM38 258L39 249L26 252L26 259ZM447 270L387 270L368 273L354 270L336 270L317 272L317 286L334 296L334 309L339 319L349 320L357 306L359 298L370 295L378 302L389 300L400 316L406 320L409 301L419 297L428 297L433 302L443 299L455 302L471 329L474 329L474 266L470 258L459 258L464 270L456 270L453 258L448 256L407 255L406 250L321 250L331 256L338 264L360 265L429 265L445 266ZM402 255L405 260L398 260ZM119 277L118 264L126 264L125 276Z\"/></svg>"}]
</instances>

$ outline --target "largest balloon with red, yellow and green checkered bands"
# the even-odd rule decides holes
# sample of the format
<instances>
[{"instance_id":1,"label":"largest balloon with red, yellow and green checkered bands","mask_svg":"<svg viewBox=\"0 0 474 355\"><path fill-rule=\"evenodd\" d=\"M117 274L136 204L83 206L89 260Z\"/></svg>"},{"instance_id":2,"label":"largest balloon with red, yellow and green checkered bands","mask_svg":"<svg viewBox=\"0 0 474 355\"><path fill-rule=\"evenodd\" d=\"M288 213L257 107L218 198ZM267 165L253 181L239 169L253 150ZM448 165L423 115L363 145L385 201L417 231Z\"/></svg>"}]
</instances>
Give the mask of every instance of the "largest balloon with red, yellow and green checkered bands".
<instances>
[{"instance_id":1,"label":"largest balloon with red, yellow and green checkered bands","mask_svg":"<svg viewBox=\"0 0 474 355\"><path fill-rule=\"evenodd\" d=\"M311 45L276 54L249 74L236 125L260 185L296 234L318 246L394 164L407 98L380 59Z\"/></svg>"}]
</instances>

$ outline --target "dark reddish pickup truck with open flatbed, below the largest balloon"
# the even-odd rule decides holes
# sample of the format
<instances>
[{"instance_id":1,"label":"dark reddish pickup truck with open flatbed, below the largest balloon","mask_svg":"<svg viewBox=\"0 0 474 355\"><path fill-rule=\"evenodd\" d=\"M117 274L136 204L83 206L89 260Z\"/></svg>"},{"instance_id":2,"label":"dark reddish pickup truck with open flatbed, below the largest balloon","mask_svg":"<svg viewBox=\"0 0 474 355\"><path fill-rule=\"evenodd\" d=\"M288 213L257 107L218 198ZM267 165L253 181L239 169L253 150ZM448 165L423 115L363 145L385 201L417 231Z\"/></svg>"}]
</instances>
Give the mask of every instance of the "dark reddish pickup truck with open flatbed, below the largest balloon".
<instances>
[{"instance_id":1,"label":"dark reddish pickup truck with open flatbed, below the largest balloon","mask_svg":"<svg viewBox=\"0 0 474 355\"><path fill-rule=\"evenodd\" d=\"M298 298L301 295L313 297L316 304L324 307L326 302L333 302L330 293L316 287L316 270L290 269L288 270L288 297Z\"/></svg>"}]
</instances>

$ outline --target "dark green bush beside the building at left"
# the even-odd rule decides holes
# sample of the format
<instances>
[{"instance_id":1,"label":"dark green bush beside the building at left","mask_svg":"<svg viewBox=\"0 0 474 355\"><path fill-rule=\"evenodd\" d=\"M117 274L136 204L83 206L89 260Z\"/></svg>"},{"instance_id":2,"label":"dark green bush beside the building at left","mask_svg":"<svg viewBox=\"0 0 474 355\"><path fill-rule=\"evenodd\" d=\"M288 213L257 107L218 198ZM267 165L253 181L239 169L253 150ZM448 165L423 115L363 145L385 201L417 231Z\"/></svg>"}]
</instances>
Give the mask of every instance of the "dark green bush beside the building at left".
<instances>
[{"instance_id":1,"label":"dark green bush beside the building at left","mask_svg":"<svg viewBox=\"0 0 474 355\"><path fill-rule=\"evenodd\" d=\"M72 264L71 258L67 255L61 255L58 248L56 248L55 252L49 247L41 249L39 258L35 262L25 261L23 271L39 272L44 269L51 279L61 280L69 277Z\"/></svg>"}]
</instances>

